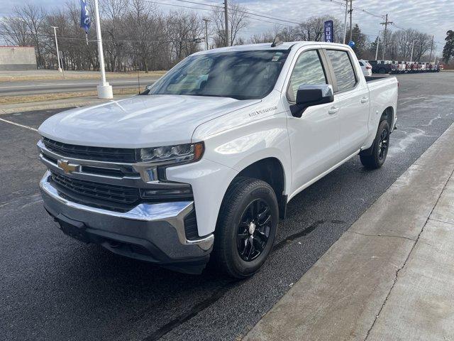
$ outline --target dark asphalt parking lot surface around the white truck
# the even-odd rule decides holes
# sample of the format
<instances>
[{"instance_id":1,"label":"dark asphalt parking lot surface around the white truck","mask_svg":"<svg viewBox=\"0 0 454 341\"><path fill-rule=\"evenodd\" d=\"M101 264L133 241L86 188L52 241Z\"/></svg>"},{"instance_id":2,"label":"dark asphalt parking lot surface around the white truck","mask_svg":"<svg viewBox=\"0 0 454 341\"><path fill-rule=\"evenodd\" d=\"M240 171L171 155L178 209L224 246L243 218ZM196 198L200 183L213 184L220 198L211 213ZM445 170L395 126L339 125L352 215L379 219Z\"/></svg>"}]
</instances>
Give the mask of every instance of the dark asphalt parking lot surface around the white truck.
<instances>
[{"instance_id":1,"label":"dark asphalt parking lot surface around the white truck","mask_svg":"<svg viewBox=\"0 0 454 341\"><path fill-rule=\"evenodd\" d=\"M354 158L295 197L264 268L237 282L177 274L63 235L40 200L45 167L33 130L61 110L0 114L9 121L0 121L0 338L240 338L453 124L454 72L397 78L397 131L384 167L366 171Z\"/></svg>"}]
</instances>

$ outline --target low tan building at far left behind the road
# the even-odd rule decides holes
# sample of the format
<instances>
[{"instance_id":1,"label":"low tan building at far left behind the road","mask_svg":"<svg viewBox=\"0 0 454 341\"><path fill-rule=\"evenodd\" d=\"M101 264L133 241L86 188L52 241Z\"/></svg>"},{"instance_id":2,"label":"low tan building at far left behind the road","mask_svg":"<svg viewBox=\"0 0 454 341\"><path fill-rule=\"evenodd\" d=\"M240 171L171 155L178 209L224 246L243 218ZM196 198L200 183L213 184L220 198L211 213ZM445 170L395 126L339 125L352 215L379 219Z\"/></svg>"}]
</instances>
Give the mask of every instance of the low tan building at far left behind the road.
<instances>
[{"instance_id":1,"label":"low tan building at far left behind the road","mask_svg":"<svg viewBox=\"0 0 454 341\"><path fill-rule=\"evenodd\" d=\"M35 48L0 46L0 70L36 70Z\"/></svg>"}]
</instances>

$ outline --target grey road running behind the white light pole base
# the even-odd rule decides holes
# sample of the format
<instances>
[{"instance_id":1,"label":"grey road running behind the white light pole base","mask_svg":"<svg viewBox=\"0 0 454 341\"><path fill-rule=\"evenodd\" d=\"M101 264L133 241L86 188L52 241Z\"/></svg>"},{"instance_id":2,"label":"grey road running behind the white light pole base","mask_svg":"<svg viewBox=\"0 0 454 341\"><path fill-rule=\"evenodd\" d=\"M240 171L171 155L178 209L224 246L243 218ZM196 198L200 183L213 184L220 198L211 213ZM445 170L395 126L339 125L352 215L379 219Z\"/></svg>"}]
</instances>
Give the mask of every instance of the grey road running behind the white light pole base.
<instances>
[{"instance_id":1,"label":"grey road running behind the white light pole base","mask_svg":"<svg viewBox=\"0 0 454 341\"><path fill-rule=\"evenodd\" d=\"M159 77L114 78L108 80L114 89L131 87L143 88L153 84ZM27 94L45 94L49 92L79 92L96 90L99 80L33 80L19 82L0 82L0 96L16 96Z\"/></svg>"}]
</instances>

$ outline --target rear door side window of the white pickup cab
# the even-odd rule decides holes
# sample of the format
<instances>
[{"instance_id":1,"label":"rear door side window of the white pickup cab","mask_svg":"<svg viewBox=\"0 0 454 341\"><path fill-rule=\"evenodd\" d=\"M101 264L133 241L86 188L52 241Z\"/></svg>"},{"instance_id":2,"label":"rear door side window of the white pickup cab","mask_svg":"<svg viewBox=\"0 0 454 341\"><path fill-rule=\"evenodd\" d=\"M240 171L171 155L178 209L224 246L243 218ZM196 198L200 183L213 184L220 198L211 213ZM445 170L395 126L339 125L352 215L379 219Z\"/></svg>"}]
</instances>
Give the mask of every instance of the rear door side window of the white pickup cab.
<instances>
[{"instance_id":1,"label":"rear door side window of the white pickup cab","mask_svg":"<svg viewBox=\"0 0 454 341\"><path fill-rule=\"evenodd\" d=\"M326 50L326 55L333 65L334 76L338 85L338 92L355 87L356 76L347 51Z\"/></svg>"}]
</instances>

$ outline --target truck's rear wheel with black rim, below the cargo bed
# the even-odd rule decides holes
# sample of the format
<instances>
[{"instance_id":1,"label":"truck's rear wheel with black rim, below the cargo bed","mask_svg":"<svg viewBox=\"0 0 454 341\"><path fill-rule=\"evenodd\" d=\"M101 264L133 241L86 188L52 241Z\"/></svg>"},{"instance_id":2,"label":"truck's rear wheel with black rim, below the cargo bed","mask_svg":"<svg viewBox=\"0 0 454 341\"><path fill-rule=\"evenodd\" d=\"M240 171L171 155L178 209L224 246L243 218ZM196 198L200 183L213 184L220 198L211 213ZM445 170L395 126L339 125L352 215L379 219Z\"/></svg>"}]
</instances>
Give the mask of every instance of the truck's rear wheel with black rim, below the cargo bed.
<instances>
[{"instance_id":1,"label":"truck's rear wheel with black rim, below the cargo bed","mask_svg":"<svg viewBox=\"0 0 454 341\"><path fill-rule=\"evenodd\" d=\"M377 135L375 136L372 146L360 153L360 161L362 166L369 169L377 169L382 167L386 160L389 148L389 124L387 121L381 121Z\"/></svg>"}]
</instances>

